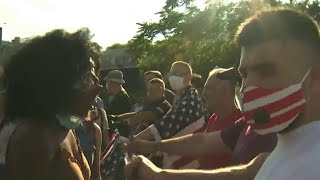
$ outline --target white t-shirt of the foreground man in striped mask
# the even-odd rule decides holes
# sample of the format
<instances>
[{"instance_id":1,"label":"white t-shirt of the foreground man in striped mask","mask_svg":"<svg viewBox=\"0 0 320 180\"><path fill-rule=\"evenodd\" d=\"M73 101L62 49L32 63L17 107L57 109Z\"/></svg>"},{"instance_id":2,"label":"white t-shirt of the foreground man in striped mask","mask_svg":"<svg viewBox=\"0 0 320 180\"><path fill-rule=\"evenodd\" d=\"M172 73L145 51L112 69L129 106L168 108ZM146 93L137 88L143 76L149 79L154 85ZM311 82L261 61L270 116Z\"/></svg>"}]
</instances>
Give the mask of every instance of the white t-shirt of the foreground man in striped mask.
<instances>
[{"instance_id":1,"label":"white t-shirt of the foreground man in striped mask","mask_svg":"<svg viewBox=\"0 0 320 180\"><path fill-rule=\"evenodd\" d=\"M255 180L320 179L320 121L278 135L278 144Z\"/></svg>"}]
</instances>

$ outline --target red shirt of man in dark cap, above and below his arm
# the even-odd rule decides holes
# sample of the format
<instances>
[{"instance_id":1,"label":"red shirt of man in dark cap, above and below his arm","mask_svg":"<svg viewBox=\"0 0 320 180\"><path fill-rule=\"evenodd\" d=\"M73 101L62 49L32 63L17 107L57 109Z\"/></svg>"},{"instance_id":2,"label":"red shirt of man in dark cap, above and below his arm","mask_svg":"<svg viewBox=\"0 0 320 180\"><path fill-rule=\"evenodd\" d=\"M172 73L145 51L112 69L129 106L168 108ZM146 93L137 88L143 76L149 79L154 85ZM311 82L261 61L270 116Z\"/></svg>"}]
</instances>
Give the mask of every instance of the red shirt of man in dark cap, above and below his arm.
<instances>
[{"instance_id":1,"label":"red shirt of man in dark cap, above and below his arm","mask_svg":"<svg viewBox=\"0 0 320 180\"><path fill-rule=\"evenodd\" d=\"M197 132L211 133L215 131L220 131L225 128L229 128L233 126L235 122L242 117L243 117L242 114L238 110L225 119L218 119L217 116L213 114L210 117L207 125ZM181 158L173 164L173 168L179 169L195 160L196 160L195 158ZM198 158L198 162L200 163L200 169L215 169L215 168L225 167L231 164L231 160L232 160L231 153L221 153L219 155L204 156L204 157Z\"/></svg>"}]
</instances>

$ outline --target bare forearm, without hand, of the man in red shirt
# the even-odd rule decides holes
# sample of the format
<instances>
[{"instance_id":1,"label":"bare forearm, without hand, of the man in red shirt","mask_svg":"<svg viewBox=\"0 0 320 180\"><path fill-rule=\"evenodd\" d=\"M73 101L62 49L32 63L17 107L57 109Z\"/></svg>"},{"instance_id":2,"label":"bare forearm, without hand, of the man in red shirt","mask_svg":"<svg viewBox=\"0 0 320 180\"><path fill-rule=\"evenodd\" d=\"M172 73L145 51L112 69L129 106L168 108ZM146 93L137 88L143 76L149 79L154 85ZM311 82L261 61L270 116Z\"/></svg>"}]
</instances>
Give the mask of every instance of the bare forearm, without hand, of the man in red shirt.
<instances>
[{"instance_id":1,"label":"bare forearm, without hand, of the man in red shirt","mask_svg":"<svg viewBox=\"0 0 320 180\"><path fill-rule=\"evenodd\" d=\"M187 136L162 140L157 150L181 156L202 156L229 151L220 138L220 134L190 134Z\"/></svg>"}]
</instances>

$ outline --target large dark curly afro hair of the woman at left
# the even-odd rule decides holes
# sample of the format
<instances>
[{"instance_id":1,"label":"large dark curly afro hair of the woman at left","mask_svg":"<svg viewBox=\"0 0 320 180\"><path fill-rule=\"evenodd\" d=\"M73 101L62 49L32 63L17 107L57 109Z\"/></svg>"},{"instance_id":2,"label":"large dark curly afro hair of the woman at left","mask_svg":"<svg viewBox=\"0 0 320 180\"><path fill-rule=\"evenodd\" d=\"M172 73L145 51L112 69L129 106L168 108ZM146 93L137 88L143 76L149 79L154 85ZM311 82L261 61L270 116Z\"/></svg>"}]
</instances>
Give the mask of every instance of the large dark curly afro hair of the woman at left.
<instances>
[{"instance_id":1,"label":"large dark curly afro hair of the woman at left","mask_svg":"<svg viewBox=\"0 0 320 180\"><path fill-rule=\"evenodd\" d=\"M54 30L17 51L5 68L6 116L49 121L71 113L66 111L82 92L75 85L90 83L90 39L88 29Z\"/></svg>"}]
</instances>

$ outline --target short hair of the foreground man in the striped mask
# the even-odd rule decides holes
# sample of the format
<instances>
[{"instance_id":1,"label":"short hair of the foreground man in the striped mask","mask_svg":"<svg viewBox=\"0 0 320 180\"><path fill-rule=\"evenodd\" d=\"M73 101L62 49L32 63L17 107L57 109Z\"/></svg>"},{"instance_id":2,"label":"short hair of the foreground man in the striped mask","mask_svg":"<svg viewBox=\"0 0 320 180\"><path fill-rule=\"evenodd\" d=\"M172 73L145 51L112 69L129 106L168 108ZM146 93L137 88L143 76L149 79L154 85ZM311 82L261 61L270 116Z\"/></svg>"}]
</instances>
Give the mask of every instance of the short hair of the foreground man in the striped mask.
<instances>
[{"instance_id":1,"label":"short hair of the foreground man in the striped mask","mask_svg":"<svg viewBox=\"0 0 320 180\"><path fill-rule=\"evenodd\" d=\"M269 40L295 40L320 51L317 23L308 15L288 8L263 10L242 23L235 36L239 46Z\"/></svg>"}]
</instances>

